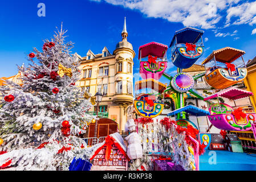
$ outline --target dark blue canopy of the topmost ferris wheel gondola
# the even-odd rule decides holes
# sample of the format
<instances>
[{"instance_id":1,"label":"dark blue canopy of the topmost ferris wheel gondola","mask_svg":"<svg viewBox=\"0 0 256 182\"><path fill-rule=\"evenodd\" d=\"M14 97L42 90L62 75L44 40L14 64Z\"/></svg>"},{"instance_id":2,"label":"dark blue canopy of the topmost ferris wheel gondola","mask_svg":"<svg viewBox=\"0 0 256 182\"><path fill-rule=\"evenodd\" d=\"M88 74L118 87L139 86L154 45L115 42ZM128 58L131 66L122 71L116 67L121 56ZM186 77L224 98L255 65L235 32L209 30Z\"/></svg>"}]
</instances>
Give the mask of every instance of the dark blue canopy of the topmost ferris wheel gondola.
<instances>
[{"instance_id":1,"label":"dark blue canopy of the topmost ferris wheel gondola","mask_svg":"<svg viewBox=\"0 0 256 182\"><path fill-rule=\"evenodd\" d=\"M203 34L204 34L204 31L198 30L196 28L191 28L191 27L183 28L175 32L169 47L172 46L176 38L177 38L177 44L185 44L185 43L194 44L201 38Z\"/></svg>"}]
</instances>

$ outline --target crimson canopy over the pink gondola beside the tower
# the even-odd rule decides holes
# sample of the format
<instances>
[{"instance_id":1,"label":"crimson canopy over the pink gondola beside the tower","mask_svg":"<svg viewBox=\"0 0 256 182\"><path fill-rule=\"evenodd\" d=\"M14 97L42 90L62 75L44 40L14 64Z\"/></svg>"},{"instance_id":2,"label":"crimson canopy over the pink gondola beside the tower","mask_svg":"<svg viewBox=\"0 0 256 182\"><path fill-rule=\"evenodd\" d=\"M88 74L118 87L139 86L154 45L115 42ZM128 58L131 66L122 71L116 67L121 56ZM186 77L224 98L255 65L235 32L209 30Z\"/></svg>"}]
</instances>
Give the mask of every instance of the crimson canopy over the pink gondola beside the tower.
<instances>
[{"instance_id":1,"label":"crimson canopy over the pink gondola beside the tower","mask_svg":"<svg viewBox=\"0 0 256 182\"><path fill-rule=\"evenodd\" d=\"M151 42L139 47L139 59L147 57L148 55L157 56L157 57L164 57L168 46L164 44L160 44L157 42Z\"/></svg>"}]
</instances>

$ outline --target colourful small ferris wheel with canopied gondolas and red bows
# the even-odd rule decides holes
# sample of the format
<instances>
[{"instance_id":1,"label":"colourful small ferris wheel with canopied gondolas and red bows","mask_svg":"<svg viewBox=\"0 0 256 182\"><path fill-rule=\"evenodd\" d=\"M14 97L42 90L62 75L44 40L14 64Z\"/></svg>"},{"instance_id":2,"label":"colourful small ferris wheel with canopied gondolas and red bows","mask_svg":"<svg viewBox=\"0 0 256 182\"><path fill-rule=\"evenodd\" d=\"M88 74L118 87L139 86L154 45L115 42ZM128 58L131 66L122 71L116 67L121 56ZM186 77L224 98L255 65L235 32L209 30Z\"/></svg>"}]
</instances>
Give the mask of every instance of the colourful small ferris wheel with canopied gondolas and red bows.
<instances>
[{"instance_id":1,"label":"colourful small ferris wheel with canopied gondolas and red bows","mask_svg":"<svg viewBox=\"0 0 256 182\"><path fill-rule=\"evenodd\" d=\"M204 53L203 34L204 31L195 28L183 28L175 32L169 46L172 63L177 67L177 73L174 76L165 72L168 64L167 46L151 42L139 47L140 75L144 80L135 83L136 96L133 107L136 114L140 118L156 118L166 109L165 100L170 99L173 101L174 110L170 109L171 106L168 105L167 108L172 111L165 113L165 115L169 118L174 117L176 125L179 127L186 129L193 127L193 129L200 132L198 117L206 117L212 124L210 127L214 126L217 129L231 132L253 131L256 135L256 114L253 106L237 107L235 103L237 100L253 96L253 93L234 86L247 76L246 64L243 60L245 51L225 47L213 51L202 62L205 67L204 73L192 76L189 73L182 72L182 69L192 67ZM239 58L242 59L242 63L238 61ZM169 85L159 82L162 76L170 81ZM196 81L202 77L216 90L222 90L210 95L201 94L194 87ZM147 88L152 89L153 92L137 93L138 90ZM185 105L188 94L206 102L209 111L206 110L207 107L201 109L194 105ZM220 98L234 101L235 106L232 107L220 102ZM196 116L197 125L189 120L188 114ZM210 127L208 125L206 133L210 132ZM205 137L205 135L202 136ZM204 140L200 136L199 133L197 139L200 140L200 144L204 145L207 141L205 142L206 139ZM209 145L210 143L207 143L205 147L208 146L209 148ZM223 145L219 144L220 146L222 150L225 150Z\"/></svg>"}]
</instances>

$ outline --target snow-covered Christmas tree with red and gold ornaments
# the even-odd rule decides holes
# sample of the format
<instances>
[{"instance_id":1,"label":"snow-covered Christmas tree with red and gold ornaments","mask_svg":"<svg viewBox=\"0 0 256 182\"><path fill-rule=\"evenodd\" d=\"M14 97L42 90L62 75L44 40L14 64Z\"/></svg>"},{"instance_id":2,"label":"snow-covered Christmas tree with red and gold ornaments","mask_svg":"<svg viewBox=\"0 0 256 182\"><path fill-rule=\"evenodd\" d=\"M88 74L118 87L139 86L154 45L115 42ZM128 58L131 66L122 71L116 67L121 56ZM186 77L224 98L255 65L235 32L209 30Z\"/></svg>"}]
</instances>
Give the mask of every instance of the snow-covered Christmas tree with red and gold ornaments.
<instances>
[{"instance_id":1,"label":"snow-covered Christmas tree with red and gold ornaments","mask_svg":"<svg viewBox=\"0 0 256 182\"><path fill-rule=\"evenodd\" d=\"M93 150L76 137L94 116L75 86L79 63L65 33L56 31L41 52L28 55L28 68L18 67L22 85L6 81L0 88L0 169L68 170L75 157L87 159Z\"/></svg>"}]
</instances>

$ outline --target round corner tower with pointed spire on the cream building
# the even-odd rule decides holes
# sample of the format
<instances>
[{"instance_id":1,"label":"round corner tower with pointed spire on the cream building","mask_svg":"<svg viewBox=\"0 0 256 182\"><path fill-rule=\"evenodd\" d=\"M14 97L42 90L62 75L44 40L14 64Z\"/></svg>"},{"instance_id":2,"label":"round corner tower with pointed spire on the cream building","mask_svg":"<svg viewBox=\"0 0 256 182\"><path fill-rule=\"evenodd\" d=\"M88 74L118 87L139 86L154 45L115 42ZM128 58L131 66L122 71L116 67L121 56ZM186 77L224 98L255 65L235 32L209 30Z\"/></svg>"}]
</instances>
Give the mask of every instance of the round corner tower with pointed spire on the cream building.
<instances>
[{"instance_id":1,"label":"round corner tower with pointed spire on the cream building","mask_svg":"<svg viewBox=\"0 0 256 182\"><path fill-rule=\"evenodd\" d=\"M124 130L124 124L127 121L125 110L127 106L133 104L133 59L135 51L132 44L127 41L126 18L124 18L124 27L121 32L122 41L116 44L113 51L115 55L115 96L113 102L120 107L119 130Z\"/></svg>"}]
</instances>

